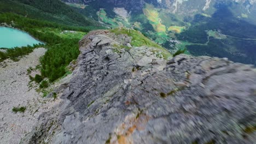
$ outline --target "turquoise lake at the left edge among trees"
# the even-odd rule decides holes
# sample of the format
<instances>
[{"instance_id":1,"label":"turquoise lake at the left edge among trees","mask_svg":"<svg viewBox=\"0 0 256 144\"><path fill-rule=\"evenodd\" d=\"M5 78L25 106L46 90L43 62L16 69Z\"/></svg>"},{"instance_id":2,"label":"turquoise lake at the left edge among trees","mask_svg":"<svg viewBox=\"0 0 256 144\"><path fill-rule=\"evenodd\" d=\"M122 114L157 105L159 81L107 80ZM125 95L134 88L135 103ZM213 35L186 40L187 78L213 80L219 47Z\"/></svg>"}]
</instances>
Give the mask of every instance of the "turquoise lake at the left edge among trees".
<instances>
[{"instance_id":1,"label":"turquoise lake at the left edge among trees","mask_svg":"<svg viewBox=\"0 0 256 144\"><path fill-rule=\"evenodd\" d=\"M28 33L9 27L0 27L0 48L13 48L33 44L42 44Z\"/></svg>"}]
</instances>

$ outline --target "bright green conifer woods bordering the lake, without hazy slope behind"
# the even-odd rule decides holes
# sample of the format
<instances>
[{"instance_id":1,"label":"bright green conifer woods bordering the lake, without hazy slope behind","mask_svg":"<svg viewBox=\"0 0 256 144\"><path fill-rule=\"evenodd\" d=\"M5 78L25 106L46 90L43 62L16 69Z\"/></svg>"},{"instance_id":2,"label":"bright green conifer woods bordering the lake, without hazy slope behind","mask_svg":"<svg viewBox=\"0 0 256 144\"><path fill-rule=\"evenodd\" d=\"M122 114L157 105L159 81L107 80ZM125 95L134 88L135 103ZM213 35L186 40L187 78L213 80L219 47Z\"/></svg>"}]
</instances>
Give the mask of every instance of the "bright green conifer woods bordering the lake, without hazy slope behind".
<instances>
[{"instance_id":1,"label":"bright green conifer woods bordering the lake, without hazy slope behind","mask_svg":"<svg viewBox=\"0 0 256 144\"><path fill-rule=\"evenodd\" d=\"M77 34L81 35L81 33L83 33L84 35L90 31L90 29L86 27L66 26L49 21L30 19L12 13L0 14L0 23L2 22L8 23L8 25L13 25L16 28L26 31L30 33L33 37L46 43L44 47L48 48L48 51L40 59L40 62L42 64L41 75L42 77L48 77L50 82L53 82L59 77L65 75L66 66L73 59L77 59L79 55L78 41L81 38L77 37ZM67 30L68 34L60 34L60 32ZM69 31L80 32L69 34ZM32 49L25 50L27 50L28 52L32 51ZM9 51L22 52L19 49ZM23 52L14 56L18 56L21 54L23 55ZM7 57L5 55L2 55L3 53L0 54L1 59L2 57Z\"/></svg>"}]
</instances>

